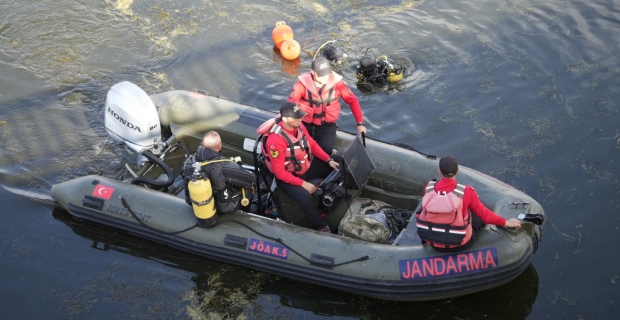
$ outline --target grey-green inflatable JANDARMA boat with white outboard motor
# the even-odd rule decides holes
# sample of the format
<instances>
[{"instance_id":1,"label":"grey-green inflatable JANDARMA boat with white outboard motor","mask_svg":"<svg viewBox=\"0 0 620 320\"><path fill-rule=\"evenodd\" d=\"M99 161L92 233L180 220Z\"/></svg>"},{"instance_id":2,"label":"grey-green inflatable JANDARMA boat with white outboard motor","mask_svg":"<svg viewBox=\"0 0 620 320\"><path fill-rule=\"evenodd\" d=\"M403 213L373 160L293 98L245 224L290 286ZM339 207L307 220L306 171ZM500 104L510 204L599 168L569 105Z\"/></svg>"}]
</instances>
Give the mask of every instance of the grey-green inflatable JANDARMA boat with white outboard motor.
<instances>
[{"instance_id":1,"label":"grey-green inflatable JANDARMA boat with white outboard motor","mask_svg":"<svg viewBox=\"0 0 620 320\"><path fill-rule=\"evenodd\" d=\"M529 266L542 240L543 208L523 192L463 166L459 183L475 186L496 214L507 219L535 215L539 221L522 221L520 229L487 225L473 246L455 253L423 244L415 216L385 243L336 234L343 217L367 210L368 199L377 211L414 212L425 184L439 178L436 156L343 131L338 131L333 150L343 159L340 183L332 190L341 199L330 201L325 215L334 233L310 229L299 204L268 178L261 179L265 172L256 129L274 117L271 111L204 92L148 96L136 85L121 82L108 92L104 121L110 137L122 145L133 177L78 177L54 185L51 195L77 220L209 259L380 299L466 295L507 283ZM185 201L181 172L210 130L220 134L224 156L240 156L256 173L257 194L253 210L218 214L213 227L202 228ZM276 205L265 205L264 199ZM316 201L326 204L325 198Z\"/></svg>"}]
</instances>

